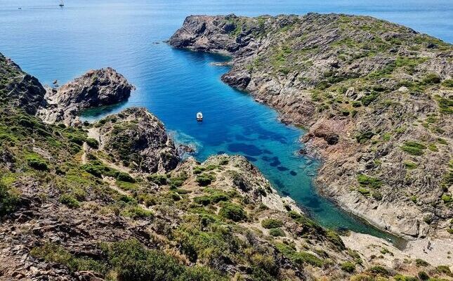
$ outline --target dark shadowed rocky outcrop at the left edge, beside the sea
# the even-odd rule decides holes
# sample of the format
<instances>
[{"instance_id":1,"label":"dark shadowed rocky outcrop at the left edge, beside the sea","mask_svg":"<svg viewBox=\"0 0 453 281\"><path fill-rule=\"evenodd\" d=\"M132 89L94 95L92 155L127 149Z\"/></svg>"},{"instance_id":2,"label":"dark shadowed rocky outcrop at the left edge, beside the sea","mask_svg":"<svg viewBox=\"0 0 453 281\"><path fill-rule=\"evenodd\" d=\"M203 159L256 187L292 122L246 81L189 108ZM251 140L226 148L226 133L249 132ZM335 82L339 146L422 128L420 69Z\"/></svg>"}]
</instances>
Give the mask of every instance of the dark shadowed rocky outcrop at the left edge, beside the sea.
<instances>
[{"instance_id":1,"label":"dark shadowed rocky outcrop at the left edge, beside the sea","mask_svg":"<svg viewBox=\"0 0 453 281\"><path fill-rule=\"evenodd\" d=\"M20 67L0 53L0 96L25 112L34 115L43 103L46 90L38 79L22 72Z\"/></svg>"}]
</instances>

